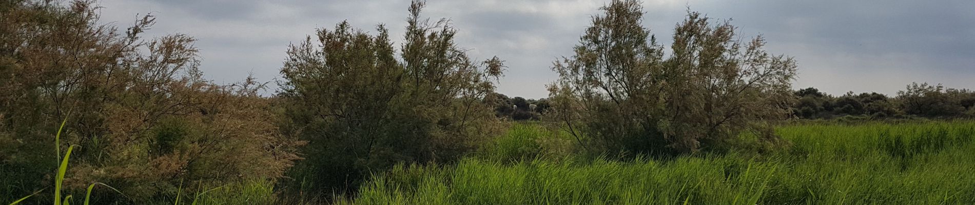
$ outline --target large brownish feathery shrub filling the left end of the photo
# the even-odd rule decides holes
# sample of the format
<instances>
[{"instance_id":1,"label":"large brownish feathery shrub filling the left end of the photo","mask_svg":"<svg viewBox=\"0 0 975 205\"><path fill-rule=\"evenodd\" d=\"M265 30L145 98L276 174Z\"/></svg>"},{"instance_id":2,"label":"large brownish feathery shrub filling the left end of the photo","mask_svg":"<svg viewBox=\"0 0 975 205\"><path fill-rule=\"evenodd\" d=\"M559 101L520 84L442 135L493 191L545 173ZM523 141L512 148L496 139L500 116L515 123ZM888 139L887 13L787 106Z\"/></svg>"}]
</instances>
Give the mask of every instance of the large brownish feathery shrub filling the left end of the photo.
<instances>
[{"instance_id":1,"label":"large brownish feathery shrub filling the left end of the photo","mask_svg":"<svg viewBox=\"0 0 975 205\"><path fill-rule=\"evenodd\" d=\"M0 177L16 179L7 192L51 185L65 117L61 147L81 145L67 188L101 182L148 199L180 180L274 179L296 158L297 143L256 93L263 85L204 80L194 38L140 38L154 17L122 31L98 23L93 1L4 1L0 10Z\"/></svg>"}]
</instances>

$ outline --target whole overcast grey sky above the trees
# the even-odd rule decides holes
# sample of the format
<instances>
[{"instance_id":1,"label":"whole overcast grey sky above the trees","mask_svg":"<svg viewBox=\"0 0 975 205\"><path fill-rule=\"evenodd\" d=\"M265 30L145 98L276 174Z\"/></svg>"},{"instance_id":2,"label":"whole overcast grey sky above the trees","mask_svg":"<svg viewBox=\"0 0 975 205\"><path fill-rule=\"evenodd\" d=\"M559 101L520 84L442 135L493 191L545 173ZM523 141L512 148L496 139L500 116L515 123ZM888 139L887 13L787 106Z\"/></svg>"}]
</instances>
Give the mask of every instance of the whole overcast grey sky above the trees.
<instances>
[{"instance_id":1,"label":"whole overcast grey sky above the trees","mask_svg":"<svg viewBox=\"0 0 975 205\"><path fill-rule=\"evenodd\" d=\"M543 98L558 78L552 61L572 47L609 0L428 0L422 16L448 18L459 47L476 59L497 55L508 71L498 92ZM208 79L229 84L253 74L281 80L288 47L316 29L348 20L395 46L409 0L100 0L102 23L132 25L157 17L146 36L198 39ZM761 35L766 50L795 57L794 87L831 94L896 94L913 82L975 88L975 1L971 0L644 0L643 25L669 46L687 10L731 19L745 39ZM271 84L273 85L273 83ZM270 91L273 93L273 90Z\"/></svg>"}]
</instances>

